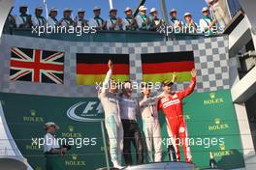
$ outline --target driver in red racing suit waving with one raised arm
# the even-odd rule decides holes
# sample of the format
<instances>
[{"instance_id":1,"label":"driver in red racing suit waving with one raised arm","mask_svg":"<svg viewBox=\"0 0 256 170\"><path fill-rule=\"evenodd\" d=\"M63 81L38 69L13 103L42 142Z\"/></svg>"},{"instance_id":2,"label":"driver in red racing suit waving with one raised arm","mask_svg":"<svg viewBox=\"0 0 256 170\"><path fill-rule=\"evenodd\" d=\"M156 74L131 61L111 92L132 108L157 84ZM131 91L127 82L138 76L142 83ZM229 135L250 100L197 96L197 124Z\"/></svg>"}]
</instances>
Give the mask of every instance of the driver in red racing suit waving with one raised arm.
<instances>
[{"instance_id":1,"label":"driver in red racing suit waving with one raised arm","mask_svg":"<svg viewBox=\"0 0 256 170\"><path fill-rule=\"evenodd\" d=\"M163 81L164 98L160 99L158 102L158 108L162 109L164 114L166 115L168 135L171 138L172 144L175 147L177 161L180 161L180 152L178 149L178 145L181 143L185 156L185 161L192 162L192 156L190 154L190 149L186 140L187 129L182 113L182 99L184 99L194 91L196 85L196 74L197 71L193 69L191 71L192 79L190 85L185 90L176 93L172 93L173 81Z\"/></svg>"}]
</instances>

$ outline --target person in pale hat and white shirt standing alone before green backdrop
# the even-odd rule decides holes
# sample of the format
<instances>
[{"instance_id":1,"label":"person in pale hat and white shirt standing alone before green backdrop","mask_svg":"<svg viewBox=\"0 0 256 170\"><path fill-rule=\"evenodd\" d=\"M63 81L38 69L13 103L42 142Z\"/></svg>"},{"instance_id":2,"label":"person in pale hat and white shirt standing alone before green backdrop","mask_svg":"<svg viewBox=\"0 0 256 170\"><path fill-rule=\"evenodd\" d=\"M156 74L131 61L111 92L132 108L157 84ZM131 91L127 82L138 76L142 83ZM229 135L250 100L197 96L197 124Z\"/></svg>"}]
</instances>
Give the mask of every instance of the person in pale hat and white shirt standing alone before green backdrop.
<instances>
[{"instance_id":1,"label":"person in pale hat and white shirt standing alone before green backdrop","mask_svg":"<svg viewBox=\"0 0 256 170\"><path fill-rule=\"evenodd\" d=\"M48 170L65 170L65 165L60 156L67 153L67 148L60 147L57 139L54 137L56 129L59 129L53 122L45 124L45 130L47 134L44 137L44 153L47 157Z\"/></svg>"}]
</instances>

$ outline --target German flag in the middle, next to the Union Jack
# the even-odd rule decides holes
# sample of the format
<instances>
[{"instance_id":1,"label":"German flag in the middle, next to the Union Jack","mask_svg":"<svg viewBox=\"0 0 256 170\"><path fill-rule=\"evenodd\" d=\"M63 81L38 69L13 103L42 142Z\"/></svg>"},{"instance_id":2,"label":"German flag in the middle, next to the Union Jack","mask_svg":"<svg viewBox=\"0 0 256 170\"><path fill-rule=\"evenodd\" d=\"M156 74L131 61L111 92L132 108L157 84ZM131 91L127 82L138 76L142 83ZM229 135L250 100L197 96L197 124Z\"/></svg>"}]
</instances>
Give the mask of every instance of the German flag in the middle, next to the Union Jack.
<instances>
[{"instance_id":1,"label":"German flag in the middle, next to the Union Jack","mask_svg":"<svg viewBox=\"0 0 256 170\"><path fill-rule=\"evenodd\" d=\"M129 80L128 54L77 54L78 85L95 85L103 82L109 71L108 61L112 60L112 78L116 81Z\"/></svg>"}]
</instances>

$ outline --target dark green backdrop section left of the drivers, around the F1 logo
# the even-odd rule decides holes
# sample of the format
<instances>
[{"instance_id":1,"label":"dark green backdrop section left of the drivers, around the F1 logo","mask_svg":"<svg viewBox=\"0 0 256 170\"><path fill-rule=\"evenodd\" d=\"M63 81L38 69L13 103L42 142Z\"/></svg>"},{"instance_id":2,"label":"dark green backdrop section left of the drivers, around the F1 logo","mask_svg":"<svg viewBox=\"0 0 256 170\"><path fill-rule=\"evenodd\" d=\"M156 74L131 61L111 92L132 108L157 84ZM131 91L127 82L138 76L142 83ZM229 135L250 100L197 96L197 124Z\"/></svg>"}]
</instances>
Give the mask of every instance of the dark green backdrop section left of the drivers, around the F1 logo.
<instances>
[{"instance_id":1,"label":"dark green backdrop section left of the drivers, around the F1 logo","mask_svg":"<svg viewBox=\"0 0 256 170\"><path fill-rule=\"evenodd\" d=\"M94 101L93 106L97 106L98 99L50 98L14 94L1 94L0 98L16 145L36 170L45 169L46 158L43 155L43 148L32 145L32 137L44 137L43 127L46 122L59 125L60 130L57 131L56 137L74 138L78 141L78 148L72 147L68 155L64 156L69 170L95 169L106 164L100 122L82 123L73 121L67 116L69 107L77 102L90 100ZM88 102L78 107L76 110L78 115L82 115L86 106ZM96 108L88 111L87 115L102 118L102 113L98 114ZM81 148L80 138L84 140ZM94 141L97 145L93 145ZM95 162L96 159L97 162Z\"/></svg>"}]
</instances>

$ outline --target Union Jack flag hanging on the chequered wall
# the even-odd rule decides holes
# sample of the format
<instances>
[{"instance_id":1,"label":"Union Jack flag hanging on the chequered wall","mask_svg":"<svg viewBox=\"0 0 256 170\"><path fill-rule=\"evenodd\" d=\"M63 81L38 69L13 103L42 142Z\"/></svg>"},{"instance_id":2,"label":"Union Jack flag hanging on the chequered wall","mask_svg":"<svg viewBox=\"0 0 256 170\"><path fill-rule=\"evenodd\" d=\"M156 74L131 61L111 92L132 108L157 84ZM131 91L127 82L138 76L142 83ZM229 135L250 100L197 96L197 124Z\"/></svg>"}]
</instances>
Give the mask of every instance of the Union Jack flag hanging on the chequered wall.
<instances>
[{"instance_id":1,"label":"Union Jack flag hanging on the chequered wall","mask_svg":"<svg viewBox=\"0 0 256 170\"><path fill-rule=\"evenodd\" d=\"M11 80L63 84L63 52L19 47L11 51Z\"/></svg>"}]
</instances>

